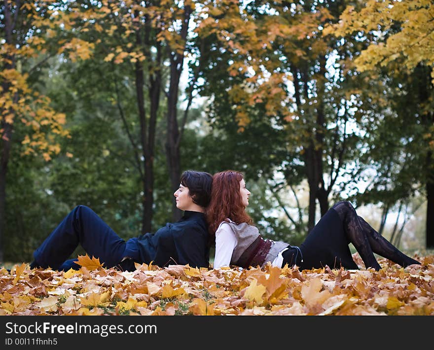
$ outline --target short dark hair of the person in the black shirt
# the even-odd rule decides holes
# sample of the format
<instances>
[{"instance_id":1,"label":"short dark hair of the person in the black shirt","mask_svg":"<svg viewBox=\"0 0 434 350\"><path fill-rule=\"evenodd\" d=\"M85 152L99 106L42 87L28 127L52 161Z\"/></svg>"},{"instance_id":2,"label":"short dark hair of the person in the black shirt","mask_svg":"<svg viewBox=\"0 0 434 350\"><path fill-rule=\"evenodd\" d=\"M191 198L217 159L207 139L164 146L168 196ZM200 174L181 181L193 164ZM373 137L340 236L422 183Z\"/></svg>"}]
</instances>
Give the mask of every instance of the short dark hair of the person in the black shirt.
<instances>
[{"instance_id":1,"label":"short dark hair of the person in the black shirt","mask_svg":"<svg viewBox=\"0 0 434 350\"><path fill-rule=\"evenodd\" d=\"M212 184L213 175L209 173L186 170L181 175L181 185L188 187L193 203L204 208L210 204Z\"/></svg>"}]
</instances>

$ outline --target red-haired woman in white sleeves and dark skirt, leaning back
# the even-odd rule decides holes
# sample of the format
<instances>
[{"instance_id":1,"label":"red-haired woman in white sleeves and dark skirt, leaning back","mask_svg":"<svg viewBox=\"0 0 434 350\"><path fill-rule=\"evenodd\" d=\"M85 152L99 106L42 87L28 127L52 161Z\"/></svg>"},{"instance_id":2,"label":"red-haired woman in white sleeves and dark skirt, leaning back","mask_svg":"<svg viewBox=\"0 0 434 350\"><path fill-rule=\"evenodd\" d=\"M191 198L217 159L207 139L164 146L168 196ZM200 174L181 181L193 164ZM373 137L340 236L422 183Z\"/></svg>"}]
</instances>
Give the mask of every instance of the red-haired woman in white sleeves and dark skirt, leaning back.
<instances>
[{"instance_id":1,"label":"red-haired woman in white sleeves and dark skirt, leaning back","mask_svg":"<svg viewBox=\"0 0 434 350\"><path fill-rule=\"evenodd\" d=\"M349 243L356 247L366 268L377 271L381 268L373 253L403 267L420 264L383 238L345 201L328 210L299 247L264 240L245 211L250 194L239 172L224 171L213 176L206 216L210 234L216 241L215 269L230 265L263 267L267 262L278 267L296 265L300 270L325 265L359 269Z\"/></svg>"}]
</instances>

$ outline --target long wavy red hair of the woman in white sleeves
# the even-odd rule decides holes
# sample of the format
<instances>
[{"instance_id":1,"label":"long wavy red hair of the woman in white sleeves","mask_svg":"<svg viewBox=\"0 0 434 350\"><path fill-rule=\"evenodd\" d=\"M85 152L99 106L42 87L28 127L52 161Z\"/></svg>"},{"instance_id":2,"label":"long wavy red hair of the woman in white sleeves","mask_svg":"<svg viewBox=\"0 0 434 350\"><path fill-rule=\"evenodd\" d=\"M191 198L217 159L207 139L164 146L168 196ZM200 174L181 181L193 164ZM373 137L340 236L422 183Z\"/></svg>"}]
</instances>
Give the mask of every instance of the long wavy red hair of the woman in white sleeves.
<instances>
[{"instance_id":1,"label":"long wavy red hair of the woman in white sleeves","mask_svg":"<svg viewBox=\"0 0 434 350\"><path fill-rule=\"evenodd\" d=\"M252 224L253 220L246 212L240 193L240 181L243 178L243 174L233 170L213 175L211 202L205 213L211 244L215 243L218 225L228 218L237 224Z\"/></svg>"}]
</instances>

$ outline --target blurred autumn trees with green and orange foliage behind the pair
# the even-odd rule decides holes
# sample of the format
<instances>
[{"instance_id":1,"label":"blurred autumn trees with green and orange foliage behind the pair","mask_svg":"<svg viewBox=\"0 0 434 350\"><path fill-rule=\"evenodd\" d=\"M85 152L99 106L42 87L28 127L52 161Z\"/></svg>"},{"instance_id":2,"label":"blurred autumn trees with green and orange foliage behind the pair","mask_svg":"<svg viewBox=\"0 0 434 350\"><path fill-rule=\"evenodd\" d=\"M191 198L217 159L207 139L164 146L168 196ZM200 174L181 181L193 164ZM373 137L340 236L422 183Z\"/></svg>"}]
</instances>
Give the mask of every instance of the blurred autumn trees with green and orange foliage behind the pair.
<instances>
[{"instance_id":1,"label":"blurred autumn trees with green and orange foliage behind the pair","mask_svg":"<svg viewBox=\"0 0 434 350\"><path fill-rule=\"evenodd\" d=\"M0 262L80 204L154 232L186 169L242 171L274 240L344 199L434 247L430 0L4 0L0 31Z\"/></svg>"}]
</instances>

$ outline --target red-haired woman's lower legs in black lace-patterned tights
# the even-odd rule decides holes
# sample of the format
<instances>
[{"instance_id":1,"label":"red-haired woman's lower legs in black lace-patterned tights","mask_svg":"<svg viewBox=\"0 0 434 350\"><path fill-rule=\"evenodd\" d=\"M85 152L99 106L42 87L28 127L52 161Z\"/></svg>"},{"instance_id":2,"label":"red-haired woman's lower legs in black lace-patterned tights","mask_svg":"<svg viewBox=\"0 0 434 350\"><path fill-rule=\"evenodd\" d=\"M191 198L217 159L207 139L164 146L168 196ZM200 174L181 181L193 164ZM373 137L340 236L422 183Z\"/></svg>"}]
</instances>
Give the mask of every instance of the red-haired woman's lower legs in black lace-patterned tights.
<instances>
[{"instance_id":1,"label":"red-haired woman's lower legs in black lace-patterned tights","mask_svg":"<svg viewBox=\"0 0 434 350\"><path fill-rule=\"evenodd\" d=\"M420 262L405 255L395 245L375 231L361 216L359 216L350 202L336 203L332 209L336 210L344 224L344 231L348 240L357 249L366 268L380 270L380 265L373 253L381 255L403 267Z\"/></svg>"}]
</instances>

